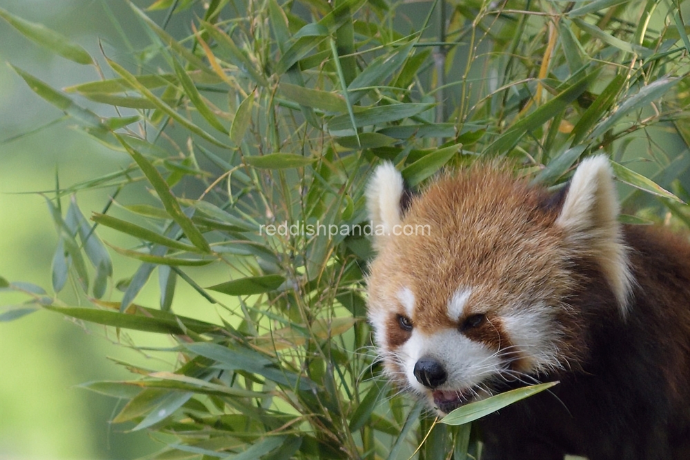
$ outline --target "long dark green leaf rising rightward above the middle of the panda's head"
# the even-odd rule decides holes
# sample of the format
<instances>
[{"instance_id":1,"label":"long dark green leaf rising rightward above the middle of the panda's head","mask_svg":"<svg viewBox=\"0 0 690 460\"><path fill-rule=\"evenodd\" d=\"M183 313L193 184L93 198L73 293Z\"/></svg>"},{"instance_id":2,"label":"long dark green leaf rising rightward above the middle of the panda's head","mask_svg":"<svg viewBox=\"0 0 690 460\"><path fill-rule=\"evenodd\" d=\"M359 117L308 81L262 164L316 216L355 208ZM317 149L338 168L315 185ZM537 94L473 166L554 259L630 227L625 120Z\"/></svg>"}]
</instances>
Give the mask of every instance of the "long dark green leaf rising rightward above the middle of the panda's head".
<instances>
[{"instance_id":1,"label":"long dark green leaf rising rightward above the middle of the panda's head","mask_svg":"<svg viewBox=\"0 0 690 460\"><path fill-rule=\"evenodd\" d=\"M558 94L558 96L544 103L543 106L540 106L537 110L513 124L509 130L493 141L484 151L487 154L509 152L526 132L540 128L546 121L555 117L562 112L562 110L565 110L571 102L578 99L580 94L587 89L598 74L599 72L596 71L590 72L584 77L576 80L566 90Z\"/></svg>"}]
</instances>

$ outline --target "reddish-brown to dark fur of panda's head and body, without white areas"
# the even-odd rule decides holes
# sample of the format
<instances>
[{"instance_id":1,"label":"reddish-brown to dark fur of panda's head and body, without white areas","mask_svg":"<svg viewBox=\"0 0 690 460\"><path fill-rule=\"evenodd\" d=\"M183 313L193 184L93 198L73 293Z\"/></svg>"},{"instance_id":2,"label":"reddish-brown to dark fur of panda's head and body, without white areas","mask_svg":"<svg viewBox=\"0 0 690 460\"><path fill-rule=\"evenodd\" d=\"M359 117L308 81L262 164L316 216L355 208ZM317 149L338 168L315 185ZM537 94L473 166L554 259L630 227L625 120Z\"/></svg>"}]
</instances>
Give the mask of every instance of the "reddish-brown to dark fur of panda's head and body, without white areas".
<instances>
[{"instance_id":1,"label":"reddish-brown to dark fur of panda's head and body, without white areas","mask_svg":"<svg viewBox=\"0 0 690 460\"><path fill-rule=\"evenodd\" d=\"M431 234L391 237L368 280L370 309L388 314L388 347L409 337L395 320L405 309L391 301L404 287L415 293L415 329L433 334L486 314L466 335L496 350L511 344L506 308L543 301L555 312L564 366L535 377L561 383L486 419L482 460L690 458L687 237L623 228L635 277L624 317L596 254L564 243L554 225L560 204L546 190L477 166L440 179L409 206L403 223L428 224ZM472 292L453 323L447 302L459 286ZM395 363L386 366L400 375Z\"/></svg>"}]
</instances>

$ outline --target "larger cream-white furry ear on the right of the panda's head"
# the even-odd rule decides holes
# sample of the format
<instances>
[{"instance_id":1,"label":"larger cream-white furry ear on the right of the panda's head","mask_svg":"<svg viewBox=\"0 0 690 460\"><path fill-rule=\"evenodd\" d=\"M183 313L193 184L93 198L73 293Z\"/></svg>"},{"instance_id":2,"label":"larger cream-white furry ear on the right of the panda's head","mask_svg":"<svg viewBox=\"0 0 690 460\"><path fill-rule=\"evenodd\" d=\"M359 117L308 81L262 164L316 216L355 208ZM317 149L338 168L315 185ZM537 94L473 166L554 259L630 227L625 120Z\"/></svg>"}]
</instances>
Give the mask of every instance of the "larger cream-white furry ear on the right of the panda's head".
<instances>
[{"instance_id":1,"label":"larger cream-white furry ear on the right of the panda's head","mask_svg":"<svg viewBox=\"0 0 690 460\"><path fill-rule=\"evenodd\" d=\"M620 205L613 185L613 170L604 155L582 161L556 219L566 239L600 263L622 313L627 312L633 275L623 243L618 213Z\"/></svg>"}]
</instances>

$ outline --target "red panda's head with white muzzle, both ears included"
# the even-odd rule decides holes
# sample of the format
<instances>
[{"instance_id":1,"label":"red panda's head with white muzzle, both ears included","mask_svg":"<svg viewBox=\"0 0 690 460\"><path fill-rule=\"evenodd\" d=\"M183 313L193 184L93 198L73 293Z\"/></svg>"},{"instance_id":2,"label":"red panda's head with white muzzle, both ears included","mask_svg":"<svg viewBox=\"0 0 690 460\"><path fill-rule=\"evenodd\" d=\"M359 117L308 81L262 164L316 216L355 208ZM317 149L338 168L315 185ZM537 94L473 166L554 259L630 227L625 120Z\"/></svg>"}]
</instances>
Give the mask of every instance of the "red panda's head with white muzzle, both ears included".
<instances>
[{"instance_id":1,"label":"red panda's head with white muzzle, both ears included","mask_svg":"<svg viewBox=\"0 0 690 460\"><path fill-rule=\"evenodd\" d=\"M582 183L609 172L605 159L595 160L563 203L480 166L433 184L404 215L402 178L389 164L377 170L369 209L391 234L375 241L368 318L390 379L445 414L577 366L573 260L591 252L609 259L601 271L617 296L622 286L621 306L629 289L617 203L600 199L610 183Z\"/></svg>"}]
</instances>

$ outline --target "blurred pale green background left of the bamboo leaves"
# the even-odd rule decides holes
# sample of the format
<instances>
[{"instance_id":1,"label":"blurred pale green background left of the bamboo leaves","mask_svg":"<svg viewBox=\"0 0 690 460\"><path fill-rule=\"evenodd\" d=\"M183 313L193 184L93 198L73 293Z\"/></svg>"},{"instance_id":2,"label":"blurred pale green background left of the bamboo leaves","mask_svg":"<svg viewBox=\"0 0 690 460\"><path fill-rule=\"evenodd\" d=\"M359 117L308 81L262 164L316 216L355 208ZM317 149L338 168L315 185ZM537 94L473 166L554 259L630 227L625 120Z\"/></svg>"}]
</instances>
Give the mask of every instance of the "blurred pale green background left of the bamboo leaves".
<instances>
[{"instance_id":1,"label":"blurred pale green background left of the bamboo leaves","mask_svg":"<svg viewBox=\"0 0 690 460\"><path fill-rule=\"evenodd\" d=\"M0 8L57 30L101 61L99 40L110 57L125 61L132 49L148 43L124 1L0 0ZM57 57L1 20L0 43L0 276L50 286L57 235L43 197L26 192L55 188L56 170L61 185L68 186L119 170L130 159L70 130L69 121L22 135L62 113L37 97L6 63L56 88L99 77L92 66L75 66ZM77 198L88 215L103 208L108 193L112 190ZM63 199L63 206L67 202ZM119 265L123 271L116 272L115 279L130 276L135 265ZM138 300L155 305L153 288ZM0 292L2 305L23 300ZM168 343L162 337L156 340ZM147 434L125 434L128 427L108 424L121 406L117 400L77 388L95 379L132 378L106 357L167 367L117 346L103 328L84 330L50 312L0 323L0 459L133 459L157 450Z\"/></svg>"}]
</instances>

